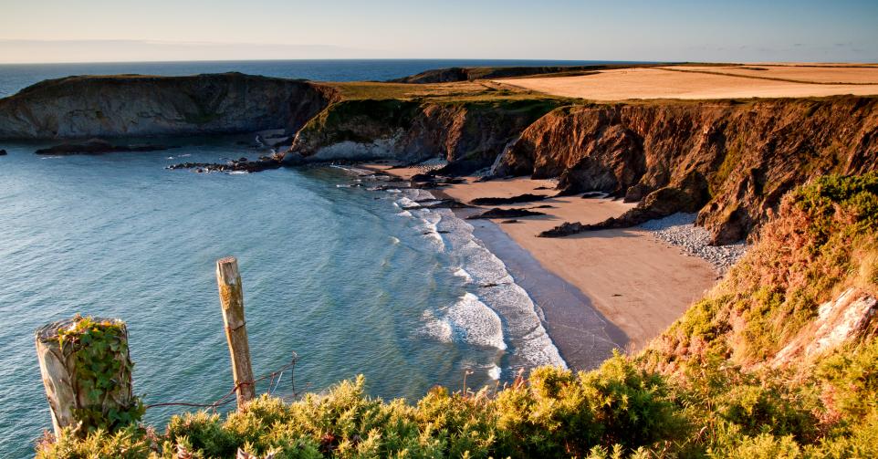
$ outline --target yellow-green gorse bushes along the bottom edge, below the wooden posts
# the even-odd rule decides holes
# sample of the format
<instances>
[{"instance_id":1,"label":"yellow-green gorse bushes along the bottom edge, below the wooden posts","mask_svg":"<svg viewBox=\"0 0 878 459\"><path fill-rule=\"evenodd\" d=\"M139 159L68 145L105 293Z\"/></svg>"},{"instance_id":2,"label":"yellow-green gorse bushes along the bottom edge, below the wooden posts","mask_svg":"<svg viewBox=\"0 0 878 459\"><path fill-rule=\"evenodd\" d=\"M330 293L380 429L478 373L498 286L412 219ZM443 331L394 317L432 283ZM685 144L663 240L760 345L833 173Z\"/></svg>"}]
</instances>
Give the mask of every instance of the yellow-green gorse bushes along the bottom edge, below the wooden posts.
<instances>
[{"instance_id":1,"label":"yellow-green gorse bushes along the bottom edge, below the wooden posts","mask_svg":"<svg viewBox=\"0 0 878 459\"><path fill-rule=\"evenodd\" d=\"M194 457L234 457L238 448L290 458L600 457L612 449L595 447L630 452L673 437L682 425L664 379L619 355L591 372L540 368L496 393L437 388L414 406L372 399L364 383L343 381L293 403L263 396L225 417L174 416L152 438L137 428L100 431L80 442L63 437L41 446L38 456L90 457L92 449L174 457L182 445Z\"/></svg>"}]
</instances>

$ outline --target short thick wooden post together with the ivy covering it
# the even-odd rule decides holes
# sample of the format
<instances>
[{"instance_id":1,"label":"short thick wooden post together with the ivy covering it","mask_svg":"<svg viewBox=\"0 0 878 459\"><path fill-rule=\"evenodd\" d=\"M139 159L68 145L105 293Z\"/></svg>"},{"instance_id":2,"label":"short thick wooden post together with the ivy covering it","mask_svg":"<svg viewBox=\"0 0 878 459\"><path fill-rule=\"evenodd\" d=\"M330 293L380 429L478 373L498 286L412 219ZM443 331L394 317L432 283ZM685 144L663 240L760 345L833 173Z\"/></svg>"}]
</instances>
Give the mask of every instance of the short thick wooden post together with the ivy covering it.
<instances>
[{"instance_id":1,"label":"short thick wooden post together with the ivy covering it","mask_svg":"<svg viewBox=\"0 0 878 459\"><path fill-rule=\"evenodd\" d=\"M37 329L36 340L56 436L68 428L113 432L141 419L124 322L77 316Z\"/></svg>"}]
</instances>

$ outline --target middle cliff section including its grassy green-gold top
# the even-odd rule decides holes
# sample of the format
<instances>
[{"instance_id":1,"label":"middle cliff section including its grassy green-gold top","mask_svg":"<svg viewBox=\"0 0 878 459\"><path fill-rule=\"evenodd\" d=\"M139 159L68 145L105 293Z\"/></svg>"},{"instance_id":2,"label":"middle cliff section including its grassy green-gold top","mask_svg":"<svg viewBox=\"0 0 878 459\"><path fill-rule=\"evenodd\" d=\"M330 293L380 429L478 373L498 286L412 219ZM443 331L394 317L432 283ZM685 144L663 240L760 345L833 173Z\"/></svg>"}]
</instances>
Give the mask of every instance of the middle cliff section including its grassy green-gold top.
<instances>
[{"instance_id":1,"label":"middle cliff section including its grassy green-gold top","mask_svg":"<svg viewBox=\"0 0 878 459\"><path fill-rule=\"evenodd\" d=\"M509 141L569 99L491 83L333 83L340 100L298 131L287 162L441 157L491 165Z\"/></svg>"}]
</instances>

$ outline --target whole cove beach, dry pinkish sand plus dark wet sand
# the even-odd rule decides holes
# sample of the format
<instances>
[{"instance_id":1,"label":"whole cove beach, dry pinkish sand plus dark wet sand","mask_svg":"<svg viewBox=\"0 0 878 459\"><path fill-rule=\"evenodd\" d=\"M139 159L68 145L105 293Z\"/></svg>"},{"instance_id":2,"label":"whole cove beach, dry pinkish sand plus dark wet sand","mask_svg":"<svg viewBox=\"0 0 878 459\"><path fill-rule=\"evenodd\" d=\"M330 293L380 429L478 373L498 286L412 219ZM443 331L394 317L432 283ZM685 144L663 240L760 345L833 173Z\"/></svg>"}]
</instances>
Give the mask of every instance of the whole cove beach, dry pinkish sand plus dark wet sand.
<instances>
[{"instance_id":1,"label":"whole cove beach, dry pinkish sand plus dark wet sand","mask_svg":"<svg viewBox=\"0 0 878 459\"><path fill-rule=\"evenodd\" d=\"M363 164L372 171L410 180L423 169ZM476 197L510 197L522 193L554 194L553 183L529 178L477 183L468 177L431 189L431 193L468 203ZM695 299L715 285L719 273L705 259L686 255L640 228L601 230L563 238L536 235L562 221L596 223L622 214L631 203L580 196L549 197L536 203L497 205L500 208L535 207L545 215L519 217L516 223L470 220L477 235L501 258L517 282L540 309L544 327L572 368L592 368L590 336L609 337L627 352L647 342L680 318ZM479 207L486 210L489 207ZM472 209L455 212L465 218ZM493 225L496 230L491 230ZM514 247L514 248L510 248ZM522 255L524 254L524 255ZM532 262L528 261L528 258ZM545 273L545 274L541 274ZM545 287L552 285L555 287ZM566 292L563 299L555 291ZM601 320L606 321L601 326ZM583 331L585 330L585 331ZM618 342L622 341L622 342ZM589 343L591 345L591 343ZM609 354L608 354L609 355Z\"/></svg>"}]
</instances>

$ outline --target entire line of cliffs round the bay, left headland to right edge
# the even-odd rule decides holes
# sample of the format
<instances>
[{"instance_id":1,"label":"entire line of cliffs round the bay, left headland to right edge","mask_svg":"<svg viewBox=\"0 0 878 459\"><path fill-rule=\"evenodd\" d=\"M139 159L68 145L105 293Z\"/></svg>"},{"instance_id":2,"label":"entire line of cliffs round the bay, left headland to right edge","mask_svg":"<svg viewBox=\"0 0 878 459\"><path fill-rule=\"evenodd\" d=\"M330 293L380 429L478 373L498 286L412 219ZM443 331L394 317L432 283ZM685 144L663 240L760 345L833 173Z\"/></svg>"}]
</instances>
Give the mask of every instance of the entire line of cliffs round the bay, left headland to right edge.
<instances>
[{"instance_id":1,"label":"entire line of cliffs round the bay, left headland to right edge","mask_svg":"<svg viewBox=\"0 0 878 459\"><path fill-rule=\"evenodd\" d=\"M621 227L698 212L716 244L751 234L791 188L878 169L878 97L589 103L478 80L312 83L242 74L70 77L0 99L0 139L284 129L287 163L447 160L446 174L559 177L560 193L640 204Z\"/></svg>"}]
</instances>

